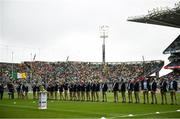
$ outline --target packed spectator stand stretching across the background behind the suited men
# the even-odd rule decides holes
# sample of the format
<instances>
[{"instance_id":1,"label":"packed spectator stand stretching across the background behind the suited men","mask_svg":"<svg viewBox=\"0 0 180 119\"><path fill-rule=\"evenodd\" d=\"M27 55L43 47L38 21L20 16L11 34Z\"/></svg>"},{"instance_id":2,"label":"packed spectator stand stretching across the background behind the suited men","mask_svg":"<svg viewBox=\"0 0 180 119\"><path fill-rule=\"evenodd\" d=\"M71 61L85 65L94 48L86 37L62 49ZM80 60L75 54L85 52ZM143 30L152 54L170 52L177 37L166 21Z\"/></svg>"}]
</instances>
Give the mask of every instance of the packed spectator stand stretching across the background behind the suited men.
<instances>
[{"instance_id":1,"label":"packed spectator stand stretching across the background behind the suited men","mask_svg":"<svg viewBox=\"0 0 180 119\"><path fill-rule=\"evenodd\" d=\"M139 62L22 62L0 63L2 80L96 80L136 79L159 72L164 61ZM23 75L22 75L23 74Z\"/></svg>"}]
</instances>

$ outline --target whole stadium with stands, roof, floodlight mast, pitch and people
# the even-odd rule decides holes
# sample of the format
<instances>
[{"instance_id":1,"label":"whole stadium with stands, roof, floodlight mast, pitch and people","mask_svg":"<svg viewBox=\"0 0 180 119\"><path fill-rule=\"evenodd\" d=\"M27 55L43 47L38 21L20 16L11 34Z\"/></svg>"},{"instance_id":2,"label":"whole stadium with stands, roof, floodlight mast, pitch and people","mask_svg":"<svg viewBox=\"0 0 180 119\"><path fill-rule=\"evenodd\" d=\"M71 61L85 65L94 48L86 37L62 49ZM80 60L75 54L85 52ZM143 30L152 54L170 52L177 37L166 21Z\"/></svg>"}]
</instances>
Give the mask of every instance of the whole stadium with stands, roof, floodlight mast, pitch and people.
<instances>
[{"instance_id":1,"label":"whole stadium with stands, roof, floodlight mast, pitch and people","mask_svg":"<svg viewBox=\"0 0 180 119\"><path fill-rule=\"evenodd\" d=\"M148 13L127 22L180 28L180 2ZM106 62L103 33L102 62L0 62L0 118L179 118L180 36L162 51L170 54L165 65ZM172 72L160 76L163 68Z\"/></svg>"}]
</instances>

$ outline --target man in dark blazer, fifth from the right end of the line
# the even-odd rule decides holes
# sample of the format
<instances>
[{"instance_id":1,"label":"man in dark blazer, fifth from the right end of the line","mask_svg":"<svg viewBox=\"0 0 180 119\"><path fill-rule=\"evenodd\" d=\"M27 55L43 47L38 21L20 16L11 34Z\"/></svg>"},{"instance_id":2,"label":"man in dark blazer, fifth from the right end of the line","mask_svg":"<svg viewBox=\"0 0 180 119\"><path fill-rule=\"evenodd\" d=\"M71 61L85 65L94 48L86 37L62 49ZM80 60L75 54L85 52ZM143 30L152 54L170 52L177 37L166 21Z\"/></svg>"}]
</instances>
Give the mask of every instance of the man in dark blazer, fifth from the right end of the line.
<instances>
[{"instance_id":1,"label":"man in dark blazer, fifth from the right end of the line","mask_svg":"<svg viewBox=\"0 0 180 119\"><path fill-rule=\"evenodd\" d=\"M136 103L140 103L139 91L140 91L139 80L137 79L135 80L135 83L134 83L134 96L135 96Z\"/></svg>"}]
</instances>

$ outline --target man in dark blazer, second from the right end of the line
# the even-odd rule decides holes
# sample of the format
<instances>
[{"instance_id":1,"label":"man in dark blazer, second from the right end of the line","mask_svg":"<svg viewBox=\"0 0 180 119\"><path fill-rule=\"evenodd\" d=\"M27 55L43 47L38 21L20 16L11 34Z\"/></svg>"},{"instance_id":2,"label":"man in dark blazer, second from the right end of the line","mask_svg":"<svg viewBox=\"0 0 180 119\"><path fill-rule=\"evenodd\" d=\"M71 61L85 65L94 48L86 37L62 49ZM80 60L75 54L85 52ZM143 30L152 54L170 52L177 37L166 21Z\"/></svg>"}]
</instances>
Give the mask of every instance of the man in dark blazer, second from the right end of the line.
<instances>
[{"instance_id":1,"label":"man in dark blazer, second from the right end of the line","mask_svg":"<svg viewBox=\"0 0 180 119\"><path fill-rule=\"evenodd\" d=\"M166 97L167 82L166 82L166 79L163 79L163 78L161 78L160 80L161 80L160 89L161 89L161 99L162 99L161 104L164 104L164 99L165 99L165 103L167 104L167 97Z\"/></svg>"}]
</instances>

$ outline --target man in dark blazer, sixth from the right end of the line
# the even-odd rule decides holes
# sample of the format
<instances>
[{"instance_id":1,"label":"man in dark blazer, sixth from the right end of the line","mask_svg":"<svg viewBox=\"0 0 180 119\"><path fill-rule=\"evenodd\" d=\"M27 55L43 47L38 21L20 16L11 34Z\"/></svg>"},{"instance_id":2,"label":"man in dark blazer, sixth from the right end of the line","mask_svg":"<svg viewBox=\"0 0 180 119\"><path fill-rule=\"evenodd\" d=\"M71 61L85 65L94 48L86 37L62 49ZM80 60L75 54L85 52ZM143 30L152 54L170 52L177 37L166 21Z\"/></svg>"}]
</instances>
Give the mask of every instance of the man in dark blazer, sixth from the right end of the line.
<instances>
[{"instance_id":1,"label":"man in dark blazer, sixth from the right end of the line","mask_svg":"<svg viewBox=\"0 0 180 119\"><path fill-rule=\"evenodd\" d=\"M133 90L134 90L133 80L129 80L128 86L127 86L127 90L128 90L129 103L132 103L132 102L133 102L132 92L133 92Z\"/></svg>"}]
</instances>

